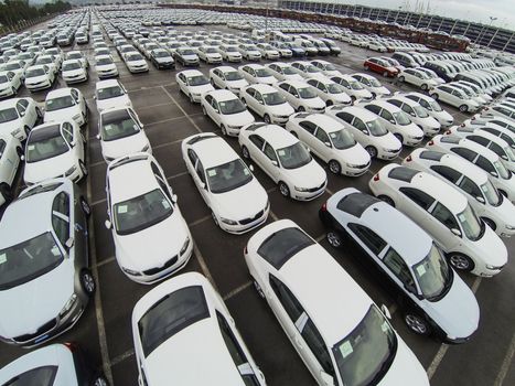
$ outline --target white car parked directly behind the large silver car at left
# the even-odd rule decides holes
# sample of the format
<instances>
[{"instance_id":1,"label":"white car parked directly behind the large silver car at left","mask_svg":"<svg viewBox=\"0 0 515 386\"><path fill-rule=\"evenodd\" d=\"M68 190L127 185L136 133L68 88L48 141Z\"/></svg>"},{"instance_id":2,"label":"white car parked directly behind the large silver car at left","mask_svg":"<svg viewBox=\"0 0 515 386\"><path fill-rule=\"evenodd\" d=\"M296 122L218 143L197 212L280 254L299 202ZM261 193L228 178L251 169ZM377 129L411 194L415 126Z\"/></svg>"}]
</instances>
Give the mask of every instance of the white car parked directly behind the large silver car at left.
<instances>
[{"instance_id":1,"label":"white car parked directly behind the large silver car at left","mask_svg":"<svg viewBox=\"0 0 515 386\"><path fill-rule=\"evenodd\" d=\"M87 175L85 144L81 128L73 120L34 127L26 139L23 181L28 185L58 176L81 181Z\"/></svg>"}]
</instances>

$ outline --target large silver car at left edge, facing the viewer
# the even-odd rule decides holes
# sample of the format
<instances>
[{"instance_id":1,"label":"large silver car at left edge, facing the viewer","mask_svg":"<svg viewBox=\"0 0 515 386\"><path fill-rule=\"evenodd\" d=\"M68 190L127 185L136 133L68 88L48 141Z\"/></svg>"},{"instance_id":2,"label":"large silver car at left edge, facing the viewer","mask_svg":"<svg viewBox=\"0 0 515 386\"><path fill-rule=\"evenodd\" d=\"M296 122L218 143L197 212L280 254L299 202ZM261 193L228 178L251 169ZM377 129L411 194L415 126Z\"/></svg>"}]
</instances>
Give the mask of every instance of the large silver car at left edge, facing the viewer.
<instances>
[{"instance_id":1,"label":"large silver car at left edge, facing the viewer","mask_svg":"<svg viewBox=\"0 0 515 386\"><path fill-rule=\"evenodd\" d=\"M34 346L71 329L95 291L78 187L60 178L21 192L0 223L0 340ZM28 219L21 226L21 219Z\"/></svg>"}]
</instances>

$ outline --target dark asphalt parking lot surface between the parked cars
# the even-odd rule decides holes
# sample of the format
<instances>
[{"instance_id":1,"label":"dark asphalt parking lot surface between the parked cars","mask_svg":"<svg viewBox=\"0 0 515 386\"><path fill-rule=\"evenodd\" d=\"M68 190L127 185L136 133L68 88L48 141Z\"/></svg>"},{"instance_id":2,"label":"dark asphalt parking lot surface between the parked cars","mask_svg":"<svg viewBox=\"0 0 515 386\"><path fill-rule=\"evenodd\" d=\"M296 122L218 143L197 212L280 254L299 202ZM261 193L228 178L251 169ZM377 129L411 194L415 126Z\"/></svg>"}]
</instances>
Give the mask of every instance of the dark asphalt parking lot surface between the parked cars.
<instances>
[{"instance_id":1,"label":"dark asphalt parking lot surface between the parked cars","mask_svg":"<svg viewBox=\"0 0 515 386\"><path fill-rule=\"evenodd\" d=\"M207 26L208 28L208 26ZM180 28L182 29L182 28ZM187 29L187 28L184 28ZM216 28L221 30L221 28ZM234 31L233 31L234 32ZM106 41L107 37L106 37ZM374 53L340 43L342 54L331 57L342 73L363 69L363 61ZM83 51L90 63L90 45L74 45L68 50ZM210 118L202 114L200 105L191 104L180 93L175 83L175 71L157 71L150 65L148 74L130 74L116 50L120 82L129 92L130 98L152 144L153 154L163 168L168 181L179 196L179 206L186 219L194 238L194 256L184 271L200 271L205 275L224 298L236 321L254 358L272 386L313 385L314 380L297 355L279 323L266 302L259 298L249 281L248 270L243 258L243 249L250 234L235 236L224 233L215 226L211 213L194 186L182 160L180 146L182 139L205 131L221 133ZM262 61L264 62L264 61ZM207 74L211 65L201 64L200 69ZM87 183L82 183L93 208L89 228L92 266L97 279L95 301L82 317L77 325L57 341L78 342L103 366L114 385L137 385L137 364L132 350L130 315L132 307L151 287L130 281L119 269L115 259L115 248L110 230L104 226L106 219L105 176L106 163L101 158L97 133L98 114L93 99L95 71L89 69L89 81L76 86L87 98L90 108L89 124L86 128ZM391 84L378 76L379 81L391 90L411 89L409 86ZM60 78L53 88L66 87ZM22 95L28 95L22 89ZM37 101L43 101L46 92L33 94ZM454 116L455 124L465 119L457 109L443 106ZM237 139L227 142L240 153ZM400 157L410 152L404 149ZM401 158L396 162L400 162ZM326 165L321 163L325 169ZM368 192L368 180L385 162L374 160L371 170L360 178L335 176L328 170L329 184L325 193L311 202L286 200L272 181L255 168L255 175L265 186L271 203L269 222L278 218L291 218L321 243L353 278L367 291L377 304L388 307L393 315L393 325L415 352L427 368L432 385L515 385L515 264L509 261L504 270L493 279L481 279L471 275L461 275L475 293L481 308L478 332L472 340L462 345L444 345L441 342L417 336L408 331L403 320L403 312L386 288L372 276L367 266L360 264L362 256L353 247L332 249L324 236L324 228L319 221L318 211L333 192L343 187L355 186ZM19 171L22 175L22 170ZM20 180L21 178L19 178ZM138 181L135 179L135 183ZM20 226L26 219L20 218ZM395 226L395 224L391 224ZM513 239L504 239L508 251L515 250ZM144 258L144 257L142 257ZM315 261L313 265L315 266ZM310 286L309 282L305 286ZM2 344L0 366L22 355L25 351ZM202 369L200 369L202 371Z\"/></svg>"}]
</instances>

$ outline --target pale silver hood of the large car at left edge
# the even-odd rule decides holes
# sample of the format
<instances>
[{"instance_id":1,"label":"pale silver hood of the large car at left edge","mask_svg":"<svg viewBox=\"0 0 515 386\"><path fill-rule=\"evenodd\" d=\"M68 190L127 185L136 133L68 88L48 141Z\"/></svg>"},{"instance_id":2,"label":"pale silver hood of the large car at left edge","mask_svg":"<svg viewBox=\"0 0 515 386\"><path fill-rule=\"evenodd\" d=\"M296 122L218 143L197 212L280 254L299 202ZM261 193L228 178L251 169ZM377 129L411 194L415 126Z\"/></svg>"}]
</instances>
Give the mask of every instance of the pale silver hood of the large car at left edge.
<instances>
[{"instance_id":1,"label":"pale silver hood of the large car at left edge","mask_svg":"<svg viewBox=\"0 0 515 386\"><path fill-rule=\"evenodd\" d=\"M73 261L65 258L56 268L24 285L0 291L0 335L34 333L57 317L74 292Z\"/></svg>"}]
</instances>

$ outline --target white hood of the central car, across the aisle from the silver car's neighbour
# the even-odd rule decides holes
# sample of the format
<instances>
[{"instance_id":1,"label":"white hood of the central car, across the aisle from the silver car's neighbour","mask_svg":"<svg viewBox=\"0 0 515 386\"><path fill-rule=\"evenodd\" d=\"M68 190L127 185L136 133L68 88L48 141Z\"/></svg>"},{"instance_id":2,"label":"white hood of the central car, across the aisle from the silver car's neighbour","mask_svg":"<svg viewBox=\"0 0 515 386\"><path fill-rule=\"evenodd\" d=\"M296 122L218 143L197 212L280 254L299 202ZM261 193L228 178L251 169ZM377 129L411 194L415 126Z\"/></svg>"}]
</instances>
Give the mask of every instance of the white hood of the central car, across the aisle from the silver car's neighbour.
<instances>
[{"instance_id":1,"label":"white hood of the central car, across the aisle from the silver car's neighbour","mask_svg":"<svg viewBox=\"0 0 515 386\"><path fill-rule=\"evenodd\" d=\"M212 201L218 207L222 217L240 221L254 217L267 205L268 195L265 189L254 178L249 183L229 192L212 194ZM236 205L237 203L237 205Z\"/></svg>"}]
</instances>

